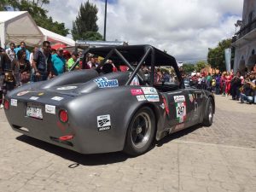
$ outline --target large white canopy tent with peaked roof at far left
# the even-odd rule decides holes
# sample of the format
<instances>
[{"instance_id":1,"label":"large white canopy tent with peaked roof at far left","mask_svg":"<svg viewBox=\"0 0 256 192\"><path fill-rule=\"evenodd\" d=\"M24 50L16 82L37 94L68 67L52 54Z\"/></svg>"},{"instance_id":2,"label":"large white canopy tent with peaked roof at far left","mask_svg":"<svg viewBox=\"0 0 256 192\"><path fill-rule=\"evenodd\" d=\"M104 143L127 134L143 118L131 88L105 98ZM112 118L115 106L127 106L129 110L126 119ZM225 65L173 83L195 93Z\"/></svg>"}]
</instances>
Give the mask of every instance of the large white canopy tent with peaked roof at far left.
<instances>
[{"instance_id":1,"label":"large white canopy tent with peaked roof at far left","mask_svg":"<svg viewBox=\"0 0 256 192\"><path fill-rule=\"evenodd\" d=\"M43 33L27 11L0 11L1 47L9 42L20 44L21 41L34 46L43 40Z\"/></svg>"}]
</instances>

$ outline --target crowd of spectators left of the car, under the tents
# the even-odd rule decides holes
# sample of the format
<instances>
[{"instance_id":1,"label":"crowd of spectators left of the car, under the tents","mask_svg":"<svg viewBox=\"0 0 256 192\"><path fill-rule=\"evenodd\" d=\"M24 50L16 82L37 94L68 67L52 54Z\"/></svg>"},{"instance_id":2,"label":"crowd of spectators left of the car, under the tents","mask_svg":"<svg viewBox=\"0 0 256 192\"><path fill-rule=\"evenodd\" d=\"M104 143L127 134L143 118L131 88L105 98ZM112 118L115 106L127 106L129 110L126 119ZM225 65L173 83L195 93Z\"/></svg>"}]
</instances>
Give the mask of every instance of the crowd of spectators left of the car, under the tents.
<instances>
[{"instance_id":1,"label":"crowd of spectators left of the car, under the tents","mask_svg":"<svg viewBox=\"0 0 256 192\"><path fill-rule=\"evenodd\" d=\"M34 47L32 52L26 49L25 42L20 42L17 47L10 43L8 49L0 48L0 108L3 108L3 97L9 90L22 84L55 78L69 71L81 54L82 52L77 51L69 54L62 48L51 49L49 41L44 41L41 48ZM89 55L84 64L79 61L79 65L74 69L90 69L97 66L98 57Z\"/></svg>"}]
</instances>

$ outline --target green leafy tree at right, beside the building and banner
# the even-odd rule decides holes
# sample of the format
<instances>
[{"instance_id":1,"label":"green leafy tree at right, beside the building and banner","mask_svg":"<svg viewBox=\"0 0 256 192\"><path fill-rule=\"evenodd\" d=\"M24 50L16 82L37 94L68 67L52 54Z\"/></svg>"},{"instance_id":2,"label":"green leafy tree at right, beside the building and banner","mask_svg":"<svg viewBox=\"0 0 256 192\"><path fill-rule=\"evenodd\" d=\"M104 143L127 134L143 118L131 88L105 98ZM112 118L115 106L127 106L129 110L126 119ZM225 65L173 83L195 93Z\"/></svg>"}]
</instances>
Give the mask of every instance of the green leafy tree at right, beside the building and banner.
<instances>
[{"instance_id":1,"label":"green leafy tree at right, beside the building and banner","mask_svg":"<svg viewBox=\"0 0 256 192\"><path fill-rule=\"evenodd\" d=\"M231 39L228 38L219 42L216 48L208 49L207 61L213 69L219 69L221 72L226 70L224 49L230 48L230 46L231 46ZM232 49L232 57L234 58L233 49Z\"/></svg>"}]
</instances>

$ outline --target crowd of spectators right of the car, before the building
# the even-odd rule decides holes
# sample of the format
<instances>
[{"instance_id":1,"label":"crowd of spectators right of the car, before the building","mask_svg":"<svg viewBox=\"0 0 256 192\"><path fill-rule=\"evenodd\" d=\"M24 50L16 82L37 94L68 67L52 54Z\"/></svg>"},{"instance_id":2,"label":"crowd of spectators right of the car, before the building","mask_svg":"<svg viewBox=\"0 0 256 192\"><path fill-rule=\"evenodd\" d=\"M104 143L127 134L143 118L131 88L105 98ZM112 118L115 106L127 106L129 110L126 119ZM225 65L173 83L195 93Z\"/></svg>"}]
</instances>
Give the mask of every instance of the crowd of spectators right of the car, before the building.
<instances>
[{"instance_id":1,"label":"crowd of spectators right of the car, before the building","mask_svg":"<svg viewBox=\"0 0 256 192\"><path fill-rule=\"evenodd\" d=\"M244 75L240 71L236 74L223 73L195 73L189 77L190 86L209 90L216 95L231 96L233 100L247 103L256 103L256 63Z\"/></svg>"}]
</instances>

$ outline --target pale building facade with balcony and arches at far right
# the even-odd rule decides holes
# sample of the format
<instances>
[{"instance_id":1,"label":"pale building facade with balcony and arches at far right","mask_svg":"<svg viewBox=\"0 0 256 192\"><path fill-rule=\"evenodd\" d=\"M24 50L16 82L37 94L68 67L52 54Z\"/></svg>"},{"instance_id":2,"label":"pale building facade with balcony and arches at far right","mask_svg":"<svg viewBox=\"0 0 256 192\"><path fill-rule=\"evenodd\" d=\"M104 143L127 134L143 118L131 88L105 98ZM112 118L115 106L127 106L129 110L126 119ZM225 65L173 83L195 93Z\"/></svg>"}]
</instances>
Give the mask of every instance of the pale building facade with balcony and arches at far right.
<instances>
[{"instance_id":1,"label":"pale building facade with balcony and arches at far right","mask_svg":"<svg viewBox=\"0 0 256 192\"><path fill-rule=\"evenodd\" d=\"M250 71L256 63L256 0L244 0L242 20L237 20L240 30L232 39L235 47L234 72Z\"/></svg>"}]
</instances>

